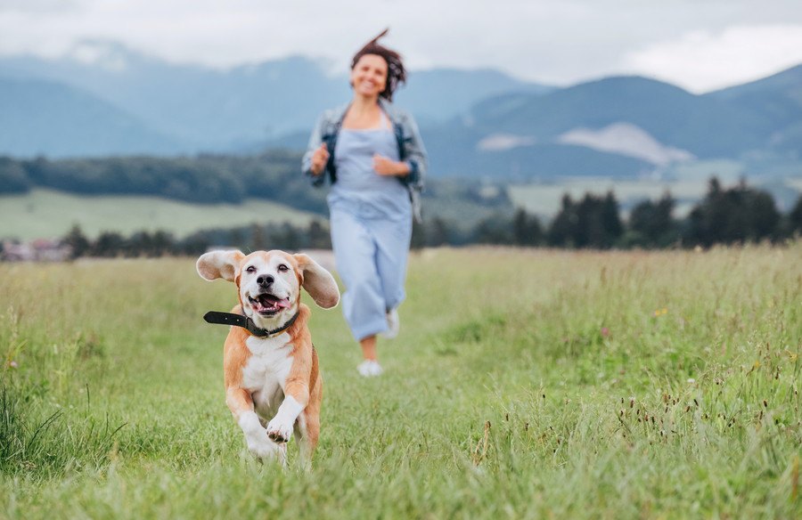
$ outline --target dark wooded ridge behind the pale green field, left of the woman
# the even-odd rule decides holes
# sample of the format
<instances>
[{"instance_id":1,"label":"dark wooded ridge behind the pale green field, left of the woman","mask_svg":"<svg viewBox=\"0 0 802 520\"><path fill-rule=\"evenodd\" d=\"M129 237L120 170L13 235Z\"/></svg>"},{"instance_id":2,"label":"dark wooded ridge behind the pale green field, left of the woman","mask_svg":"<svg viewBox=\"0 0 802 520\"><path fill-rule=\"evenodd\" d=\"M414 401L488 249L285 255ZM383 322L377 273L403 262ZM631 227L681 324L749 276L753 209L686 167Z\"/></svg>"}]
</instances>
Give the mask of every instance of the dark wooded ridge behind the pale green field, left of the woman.
<instances>
[{"instance_id":1,"label":"dark wooded ridge behind the pale green field, left of the woman","mask_svg":"<svg viewBox=\"0 0 802 520\"><path fill-rule=\"evenodd\" d=\"M112 157L49 160L0 157L0 194L51 188L81 195L151 195L200 204L244 199L291 200L324 214L325 193L310 190L297 152L195 157Z\"/></svg>"}]
</instances>

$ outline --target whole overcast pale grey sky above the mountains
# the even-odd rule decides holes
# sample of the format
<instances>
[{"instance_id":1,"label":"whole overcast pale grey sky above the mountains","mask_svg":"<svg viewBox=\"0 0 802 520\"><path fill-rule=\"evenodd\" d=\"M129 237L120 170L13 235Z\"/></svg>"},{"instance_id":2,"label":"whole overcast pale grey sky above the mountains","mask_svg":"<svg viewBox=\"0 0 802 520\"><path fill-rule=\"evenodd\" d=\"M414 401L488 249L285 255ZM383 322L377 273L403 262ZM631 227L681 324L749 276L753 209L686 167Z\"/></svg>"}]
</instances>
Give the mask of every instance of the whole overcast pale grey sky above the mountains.
<instances>
[{"instance_id":1,"label":"whole overcast pale grey sky above the mountains","mask_svg":"<svg viewBox=\"0 0 802 520\"><path fill-rule=\"evenodd\" d=\"M387 26L410 69L551 85L640 74L702 93L802 63L802 0L0 0L0 54L105 40L218 68L303 54L344 71Z\"/></svg>"}]
</instances>

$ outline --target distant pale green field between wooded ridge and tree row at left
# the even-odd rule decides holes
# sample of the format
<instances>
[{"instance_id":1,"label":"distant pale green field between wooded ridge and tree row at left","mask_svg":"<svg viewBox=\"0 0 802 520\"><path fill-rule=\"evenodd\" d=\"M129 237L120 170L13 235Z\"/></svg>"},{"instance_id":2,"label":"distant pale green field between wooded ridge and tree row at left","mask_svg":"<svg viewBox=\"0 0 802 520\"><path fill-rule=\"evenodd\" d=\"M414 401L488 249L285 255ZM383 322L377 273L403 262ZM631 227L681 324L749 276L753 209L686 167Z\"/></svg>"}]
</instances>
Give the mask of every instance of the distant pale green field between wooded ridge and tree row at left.
<instances>
[{"instance_id":1,"label":"distant pale green field between wooded ridge and tree row at left","mask_svg":"<svg viewBox=\"0 0 802 520\"><path fill-rule=\"evenodd\" d=\"M43 189L0 196L0 239L62 237L76 223L91 238L101 232L130 235L143 230L163 230L183 238L201 229L285 221L306 225L314 218L311 213L257 199L241 205L201 205L158 197L90 197Z\"/></svg>"}]
</instances>

